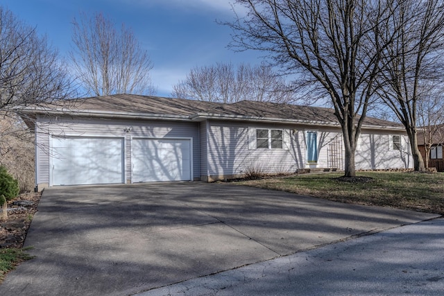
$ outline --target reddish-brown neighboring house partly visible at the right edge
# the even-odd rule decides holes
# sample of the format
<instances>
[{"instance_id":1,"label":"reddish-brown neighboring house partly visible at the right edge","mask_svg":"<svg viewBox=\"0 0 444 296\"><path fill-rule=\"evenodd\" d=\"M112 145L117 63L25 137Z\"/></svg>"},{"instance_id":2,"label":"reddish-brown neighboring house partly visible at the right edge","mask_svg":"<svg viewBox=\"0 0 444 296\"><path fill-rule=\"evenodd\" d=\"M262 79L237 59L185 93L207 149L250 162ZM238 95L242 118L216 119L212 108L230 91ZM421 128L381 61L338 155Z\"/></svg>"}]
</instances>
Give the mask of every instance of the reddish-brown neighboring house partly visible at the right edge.
<instances>
[{"instance_id":1,"label":"reddish-brown neighboring house partly visible at the right edge","mask_svg":"<svg viewBox=\"0 0 444 296\"><path fill-rule=\"evenodd\" d=\"M436 168L438 172L444 172L443 146L444 146L444 124L433 125L431 132L424 134L423 131L418 132L418 148L421 152L422 159L426 159L425 143L432 139L430 147L429 168Z\"/></svg>"}]
</instances>

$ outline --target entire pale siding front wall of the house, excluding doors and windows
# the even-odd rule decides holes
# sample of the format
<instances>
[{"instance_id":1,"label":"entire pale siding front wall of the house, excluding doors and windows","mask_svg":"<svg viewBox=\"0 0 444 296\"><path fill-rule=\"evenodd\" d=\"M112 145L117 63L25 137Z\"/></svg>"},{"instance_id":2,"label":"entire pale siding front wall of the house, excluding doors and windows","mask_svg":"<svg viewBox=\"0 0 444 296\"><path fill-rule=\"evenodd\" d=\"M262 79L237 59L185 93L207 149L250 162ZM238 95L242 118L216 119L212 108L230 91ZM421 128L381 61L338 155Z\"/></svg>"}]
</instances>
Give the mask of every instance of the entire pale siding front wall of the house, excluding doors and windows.
<instances>
[{"instance_id":1,"label":"entire pale siding front wall of the house, excluding doors and windows","mask_svg":"<svg viewBox=\"0 0 444 296\"><path fill-rule=\"evenodd\" d=\"M123 137L125 139L125 178L131 177L131 140L133 137L191 138L193 143L193 177L217 180L243 175L248 170L264 173L293 173L300 168L336 168L343 170L343 139L339 128L307 125L248 123L241 121L202 121L200 123L173 121L127 121L117 119L38 119L36 127L36 182L49 185L50 134L56 136ZM51 124L49 124L51 123ZM126 128L131 128L126 132ZM288 146L283 149L251 148L248 130L277 129L288 132ZM306 132L317 132L318 162L307 163ZM363 130L355 155L359 169L411 168L407 136L402 135L401 150L391 149L393 132ZM338 144L341 146L338 149ZM336 147L332 149L332 147ZM332 153L334 155L332 155ZM332 157L340 159L332 163Z\"/></svg>"}]
</instances>

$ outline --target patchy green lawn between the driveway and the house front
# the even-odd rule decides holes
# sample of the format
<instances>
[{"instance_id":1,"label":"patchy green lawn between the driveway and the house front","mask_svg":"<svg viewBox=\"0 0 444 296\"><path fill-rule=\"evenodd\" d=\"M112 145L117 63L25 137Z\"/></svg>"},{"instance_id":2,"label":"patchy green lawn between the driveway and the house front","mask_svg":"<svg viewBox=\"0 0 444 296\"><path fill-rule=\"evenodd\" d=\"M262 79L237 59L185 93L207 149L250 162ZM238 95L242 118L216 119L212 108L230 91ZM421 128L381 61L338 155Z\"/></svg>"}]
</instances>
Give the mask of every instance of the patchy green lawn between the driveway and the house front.
<instances>
[{"instance_id":1,"label":"patchy green lawn between the driveway and the house front","mask_svg":"<svg viewBox=\"0 0 444 296\"><path fill-rule=\"evenodd\" d=\"M444 173L357 172L370 182L339 182L341 173L309 173L239 182L353 204L411 209L444 215Z\"/></svg>"}]
</instances>

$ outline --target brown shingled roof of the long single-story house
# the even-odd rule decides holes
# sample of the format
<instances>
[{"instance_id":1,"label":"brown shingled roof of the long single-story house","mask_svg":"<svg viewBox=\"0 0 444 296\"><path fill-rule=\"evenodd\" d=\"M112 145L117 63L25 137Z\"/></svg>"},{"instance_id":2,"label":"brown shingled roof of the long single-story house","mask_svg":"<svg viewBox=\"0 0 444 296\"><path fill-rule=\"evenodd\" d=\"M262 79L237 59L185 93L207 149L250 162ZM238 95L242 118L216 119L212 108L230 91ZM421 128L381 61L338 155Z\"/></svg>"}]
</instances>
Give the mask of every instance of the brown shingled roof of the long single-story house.
<instances>
[{"instance_id":1,"label":"brown shingled roof of the long single-story house","mask_svg":"<svg viewBox=\"0 0 444 296\"><path fill-rule=\"evenodd\" d=\"M134 94L94 96L79 98L73 102L68 108L64 108L65 113L71 115L95 114L97 116L169 118L188 121L235 119L339 125L333 109L282 103L240 101L226 104ZM57 107L56 110L51 110L49 113L57 111L60 111L60 108ZM46 112L48 111L46 110ZM384 128L402 128L402 125L398 123L372 117L366 117L364 124Z\"/></svg>"}]
</instances>

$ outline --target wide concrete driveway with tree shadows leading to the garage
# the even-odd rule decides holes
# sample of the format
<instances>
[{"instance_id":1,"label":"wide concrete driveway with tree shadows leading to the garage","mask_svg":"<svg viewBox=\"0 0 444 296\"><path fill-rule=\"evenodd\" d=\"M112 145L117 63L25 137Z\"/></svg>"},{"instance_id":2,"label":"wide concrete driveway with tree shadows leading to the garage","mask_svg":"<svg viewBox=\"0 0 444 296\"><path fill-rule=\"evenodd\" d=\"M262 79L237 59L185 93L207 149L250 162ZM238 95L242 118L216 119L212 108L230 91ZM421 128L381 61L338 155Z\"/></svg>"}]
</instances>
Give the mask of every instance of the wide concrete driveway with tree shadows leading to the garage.
<instances>
[{"instance_id":1,"label":"wide concrete driveway with tree shadows leading to the garage","mask_svg":"<svg viewBox=\"0 0 444 296\"><path fill-rule=\"evenodd\" d=\"M0 295L130 295L437 215L234 184L45 189Z\"/></svg>"}]
</instances>

